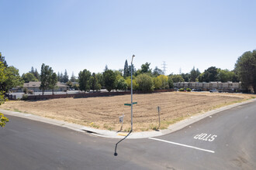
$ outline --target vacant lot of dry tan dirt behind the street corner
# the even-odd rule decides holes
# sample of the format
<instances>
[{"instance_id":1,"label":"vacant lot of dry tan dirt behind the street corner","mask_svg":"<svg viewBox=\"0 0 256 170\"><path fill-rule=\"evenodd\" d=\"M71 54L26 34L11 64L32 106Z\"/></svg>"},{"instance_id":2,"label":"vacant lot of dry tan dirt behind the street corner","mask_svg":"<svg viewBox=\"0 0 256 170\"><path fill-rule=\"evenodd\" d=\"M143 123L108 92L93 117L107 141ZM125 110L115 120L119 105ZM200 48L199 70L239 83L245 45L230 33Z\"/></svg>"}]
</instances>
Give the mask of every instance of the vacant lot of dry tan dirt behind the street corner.
<instances>
[{"instance_id":1,"label":"vacant lot of dry tan dirt behind the street corner","mask_svg":"<svg viewBox=\"0 0 256 170\"><path fill-rule=\"evenodd\" d=\"M161 129L194 114L251 99L255 95L229 93L169 92L133 95L133 130L158 127L157 106L161 107ZM125 114L123 131L130 131L130 95L116 97L65 98L40 101L8 101L0 108L55 118L93 128L119 131L119 116Z\"/></svg>"}]
</instances>

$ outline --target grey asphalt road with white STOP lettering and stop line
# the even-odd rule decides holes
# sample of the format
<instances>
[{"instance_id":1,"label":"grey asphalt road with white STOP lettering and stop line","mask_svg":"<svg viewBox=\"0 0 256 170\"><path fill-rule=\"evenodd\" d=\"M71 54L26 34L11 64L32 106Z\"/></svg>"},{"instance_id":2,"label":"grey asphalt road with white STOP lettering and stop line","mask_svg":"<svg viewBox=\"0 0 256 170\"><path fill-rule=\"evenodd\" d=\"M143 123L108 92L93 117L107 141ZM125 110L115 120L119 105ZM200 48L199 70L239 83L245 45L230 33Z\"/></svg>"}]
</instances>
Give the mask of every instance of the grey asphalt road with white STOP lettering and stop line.
<instances>
[{"instance_id":1,"label":"grey asphalt road with white STOP lettering and stop line","mask_svg":"<svg viewBox=\"0 0 256 170\"><path fill-rule=\"evenodd\" d=\"M9 116L0 169L256 169L256 102L157 138L101 138Z\"/></svg>"}]
</instances>

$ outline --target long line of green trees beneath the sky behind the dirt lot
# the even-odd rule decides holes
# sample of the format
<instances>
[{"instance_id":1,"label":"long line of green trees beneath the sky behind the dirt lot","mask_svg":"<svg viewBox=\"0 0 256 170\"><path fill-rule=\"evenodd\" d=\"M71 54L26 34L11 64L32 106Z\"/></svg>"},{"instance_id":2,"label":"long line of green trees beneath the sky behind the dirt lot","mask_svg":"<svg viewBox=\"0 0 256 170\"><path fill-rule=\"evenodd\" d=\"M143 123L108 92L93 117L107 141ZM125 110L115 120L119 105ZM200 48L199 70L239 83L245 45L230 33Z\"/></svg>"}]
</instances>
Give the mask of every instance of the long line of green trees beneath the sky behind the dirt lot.
<instances>
[{"instance_id":1,"label":"long line of green trees beneath the sky behind the dirt lot","mask_svg":"<svg viewBox=\"0 0 256 170\"><path fill-rule=\"evenodd\" d=\"M210 66L204 72L192 68L189 73L173 74L165 76L163 71L157 66L152 70L150 63L144 63L138 70L128 64L127 60L121 70L110 70L106 66L102 73L91 73L89 70L82 70L78 77L72 73L71 78L67 75L67 70L63 73L54 73L50 66L42 64L40 73L33 67L28 73L19 76L19 70L14 66L8 66L5 57L0 53L0 62L5 76L0 80L0 90L8 93L13 87L21 87L22 83L29 81L41 81L41 89L51 89L54 91L57 81L66 83L67 86L75 90L89 91L100 90L105 87L111 90L130 90L133 71L133 89L152 91L156 89L168 89L177 82L241 82L245 90L256 91L256 50L243 53L237 59L234 70L221 70L215 66Z\"/></svg>"}]
</instances>

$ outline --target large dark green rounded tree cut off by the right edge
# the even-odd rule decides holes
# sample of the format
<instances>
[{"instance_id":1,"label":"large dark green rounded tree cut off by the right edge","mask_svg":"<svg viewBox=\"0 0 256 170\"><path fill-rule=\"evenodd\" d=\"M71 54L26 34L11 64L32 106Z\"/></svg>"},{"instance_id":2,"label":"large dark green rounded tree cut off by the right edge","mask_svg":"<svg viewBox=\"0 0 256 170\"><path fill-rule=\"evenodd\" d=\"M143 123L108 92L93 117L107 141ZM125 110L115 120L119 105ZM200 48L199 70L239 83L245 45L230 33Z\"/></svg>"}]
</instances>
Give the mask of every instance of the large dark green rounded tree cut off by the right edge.
<instances>
[{"instance_id":1,"label":"large dark green rounded tree cut off by the right edge","mask_svg":"<svg viewBox=\"0 0 256 170\"><path fill-rule=\"evenodd\" d=\"M256 49L247 51L237 59L235 71L246 90L252 88L256 93Z\"/></svg>"}]
</instances>

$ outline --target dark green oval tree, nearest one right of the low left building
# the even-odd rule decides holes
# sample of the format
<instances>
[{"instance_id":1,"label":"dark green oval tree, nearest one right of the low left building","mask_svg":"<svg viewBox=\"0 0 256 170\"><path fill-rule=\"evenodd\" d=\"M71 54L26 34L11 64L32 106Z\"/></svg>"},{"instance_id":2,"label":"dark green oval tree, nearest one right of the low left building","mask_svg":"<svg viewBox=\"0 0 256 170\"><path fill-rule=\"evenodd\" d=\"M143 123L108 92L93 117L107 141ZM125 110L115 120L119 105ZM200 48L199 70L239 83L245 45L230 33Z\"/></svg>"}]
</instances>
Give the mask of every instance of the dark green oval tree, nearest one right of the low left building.
<instances>
[{"instance_id":1,"label":"dark green oval tree, nearest one right of the low left building","mask_svg":"<svg viewBox=\"0 0 256 170\"><path fill-rule=\"evenodd\" d=\"M79 80L79 90L81 91L89 91L90 86L90 78L91 72L89 70L83 70L78 73L78 80Z\"/></svg>"}]
</instances>

